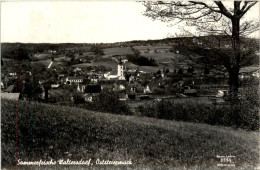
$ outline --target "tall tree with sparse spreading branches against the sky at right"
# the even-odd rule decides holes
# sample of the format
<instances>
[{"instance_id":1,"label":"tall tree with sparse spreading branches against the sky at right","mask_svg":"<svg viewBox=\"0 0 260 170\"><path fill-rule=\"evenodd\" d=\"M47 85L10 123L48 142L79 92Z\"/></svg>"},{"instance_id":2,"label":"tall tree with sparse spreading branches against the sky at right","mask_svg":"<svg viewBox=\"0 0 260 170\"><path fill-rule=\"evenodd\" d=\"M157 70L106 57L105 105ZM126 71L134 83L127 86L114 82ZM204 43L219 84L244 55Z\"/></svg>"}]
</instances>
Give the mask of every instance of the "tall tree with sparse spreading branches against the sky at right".
<instances>
[{"instance_id":1,"label":"tall tree with sparse spreading branches against the sky at right","mask_svg":"<svg viewBox=\"0 0 260 170\"><path fill-rule=\"evenodd\" d=\"M144 2L144 15L161 21L186 21L188 26L196 26L197 30L209 35L230 35L231 50L212 51L213 54L225 60L224 66L229 76L229 89L232 102L238 99L238 75L240 62L248 52L243 51L241 36L246 36L259 28L259 23L241 19L257 4L257 1L233 1L233 9L221 1L174 1L174 2ZM197 43L198 44L198 43ZM201 44L201 43L199 43ZM208 49L208 48L207 48ZM209 50L207 50L208 52ZM250 51L250 50L248 50ZM195 53L205 54L205 50Z\"/></svg>"}]
</instances>

